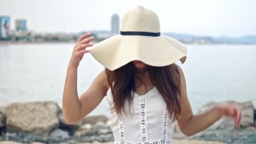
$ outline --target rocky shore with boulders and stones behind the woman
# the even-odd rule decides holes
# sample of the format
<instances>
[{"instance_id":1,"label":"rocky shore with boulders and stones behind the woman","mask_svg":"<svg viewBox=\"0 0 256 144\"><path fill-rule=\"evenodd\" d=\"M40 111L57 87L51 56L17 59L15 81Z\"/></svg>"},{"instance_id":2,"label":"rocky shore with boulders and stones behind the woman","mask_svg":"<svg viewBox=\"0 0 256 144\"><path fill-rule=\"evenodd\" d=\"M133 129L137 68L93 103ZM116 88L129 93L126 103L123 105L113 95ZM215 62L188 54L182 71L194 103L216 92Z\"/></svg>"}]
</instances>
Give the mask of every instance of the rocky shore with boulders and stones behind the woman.
<instances>
[{"instance_id":1,"label":"rocky shore with boulders and stones behind the woman","mask_svg":"<svg viewBox=\"0 0 256 144\"><path fill-rule=\"evenodd\" d=\"M256 144L256 110L251 101L234 102L242 110L240 128L233 128L233 120L223 117L205 131L184 136L176 123L173 144ZM204 104L196 114L215 106ZM104 115L87 116L77 125L67 125L62 110L53 101L13 103L0 107L0 144L113 144L110 120Z\"/></svg>"}]
</instances>

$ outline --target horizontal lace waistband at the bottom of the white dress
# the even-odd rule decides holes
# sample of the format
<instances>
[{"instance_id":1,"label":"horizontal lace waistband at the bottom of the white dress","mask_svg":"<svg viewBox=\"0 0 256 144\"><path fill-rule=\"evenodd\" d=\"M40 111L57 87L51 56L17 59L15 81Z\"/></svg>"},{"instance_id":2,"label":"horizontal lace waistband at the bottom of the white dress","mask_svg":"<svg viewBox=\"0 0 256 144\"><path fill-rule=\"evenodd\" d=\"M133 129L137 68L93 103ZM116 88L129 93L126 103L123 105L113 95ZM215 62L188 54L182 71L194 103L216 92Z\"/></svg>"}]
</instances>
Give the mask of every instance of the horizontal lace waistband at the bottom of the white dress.
<instances>
[{"instance_id":1,"label":"horizontal lace waistband at the bottom of the white dress","mask_svg":"<svg viewBox=\"0 0 256 144\"><path fill-rule=\"evenodd\" d=\"M172 139L160 139L155 141L114 141L114 144L172 144Z\"/></svg>"}]
</instances>

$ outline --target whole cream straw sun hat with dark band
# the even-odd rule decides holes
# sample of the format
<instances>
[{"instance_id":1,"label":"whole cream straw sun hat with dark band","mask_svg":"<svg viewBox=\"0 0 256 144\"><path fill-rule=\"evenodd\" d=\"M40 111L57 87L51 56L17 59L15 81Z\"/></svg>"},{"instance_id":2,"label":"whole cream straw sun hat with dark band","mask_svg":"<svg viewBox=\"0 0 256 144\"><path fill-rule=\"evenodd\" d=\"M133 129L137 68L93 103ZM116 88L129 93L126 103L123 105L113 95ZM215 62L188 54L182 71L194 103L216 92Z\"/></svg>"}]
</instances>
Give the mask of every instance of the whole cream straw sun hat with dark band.
<instances>
[{"instance_id":1,"label":"whole cream straw sun hat with dark band","mask_svg":"<svg viewBox=\"0 0 256 144\"><path fill-rule=\"evenodd\" d=\"M130 61L162 67L187 58L187 46L160 33L155 12L137 6L125 13L120 34L93 45L91 55L109 70L115 70Z\"/></svg>"}]
</instances>

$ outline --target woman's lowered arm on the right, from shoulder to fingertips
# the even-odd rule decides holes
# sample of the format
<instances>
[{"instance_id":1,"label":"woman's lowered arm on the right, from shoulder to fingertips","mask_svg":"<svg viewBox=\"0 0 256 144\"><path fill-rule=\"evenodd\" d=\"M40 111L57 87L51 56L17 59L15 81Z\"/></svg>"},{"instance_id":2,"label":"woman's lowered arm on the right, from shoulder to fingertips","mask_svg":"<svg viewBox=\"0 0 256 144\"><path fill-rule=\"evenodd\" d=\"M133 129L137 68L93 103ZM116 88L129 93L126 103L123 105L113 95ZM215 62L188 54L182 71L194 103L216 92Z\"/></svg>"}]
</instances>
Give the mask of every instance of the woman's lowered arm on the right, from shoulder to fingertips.
<instances>
[{"instance_id":1,"label":"woman's lowered arm on the right, from shoulder to fingertips","mask_svg":"<svg viewBox=\"0 0 256 144\"><path fill-rule=\"evenodd\" d=\"M221 117L232 117L235 121L235 128L240 126L241 112L236 104L220 103L210 109L208 112L199 115L193 115L189 100L187 97L186 80L184 73L179 67L181 75L181 114L177 118L179 128L186 136L192 136L200 131L204 131Z\"/></svg>"}]
</instances>

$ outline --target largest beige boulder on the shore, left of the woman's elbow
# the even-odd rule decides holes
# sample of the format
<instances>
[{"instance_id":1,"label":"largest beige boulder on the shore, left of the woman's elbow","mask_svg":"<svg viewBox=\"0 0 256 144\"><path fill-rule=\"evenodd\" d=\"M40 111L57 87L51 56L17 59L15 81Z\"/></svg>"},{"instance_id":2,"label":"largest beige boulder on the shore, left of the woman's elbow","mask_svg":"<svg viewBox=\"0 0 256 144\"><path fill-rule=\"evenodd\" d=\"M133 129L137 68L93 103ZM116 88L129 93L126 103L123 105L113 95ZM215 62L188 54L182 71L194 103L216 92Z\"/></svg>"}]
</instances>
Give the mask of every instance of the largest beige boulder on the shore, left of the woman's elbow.
<instances>
[{"instance_id":1,"label":"largest beige boulder on the shore, left of the woman's elbow","mask_svg":"<svg viewBox=\"0 0 256 144\"><path fill-rule=\"evenodd\" d=\"M59 127L60 108L56 102L13 103L6 107L8 132L24 131L37 135L48 135Z\"/></svg>"}]
</instances>

